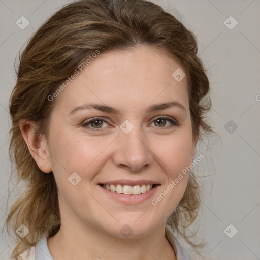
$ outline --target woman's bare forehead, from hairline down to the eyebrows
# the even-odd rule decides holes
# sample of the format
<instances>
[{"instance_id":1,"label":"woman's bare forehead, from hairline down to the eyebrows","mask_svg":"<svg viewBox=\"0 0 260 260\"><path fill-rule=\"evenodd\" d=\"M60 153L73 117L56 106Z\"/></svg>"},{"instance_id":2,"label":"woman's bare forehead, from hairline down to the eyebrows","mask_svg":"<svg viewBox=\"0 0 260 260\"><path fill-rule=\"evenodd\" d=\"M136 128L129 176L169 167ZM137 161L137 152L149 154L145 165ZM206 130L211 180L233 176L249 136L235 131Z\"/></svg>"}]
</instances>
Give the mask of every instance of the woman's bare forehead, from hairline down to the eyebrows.
<instances>
[{"instance_id":1,"label":"woman's bare forehead, from hairline down to the eyebrows","mask_svg":"<svg viewBox=\"0 0 260 260\"><path fill-rule=\"evenodd\" d=\"M175 98L186 103L186 77L176 81L173 73L177 69L180 66L174 59L150 46L104 52L62 91L59 102L70 108L89 101L145 106Z\"/></svg>"}]
</instances>

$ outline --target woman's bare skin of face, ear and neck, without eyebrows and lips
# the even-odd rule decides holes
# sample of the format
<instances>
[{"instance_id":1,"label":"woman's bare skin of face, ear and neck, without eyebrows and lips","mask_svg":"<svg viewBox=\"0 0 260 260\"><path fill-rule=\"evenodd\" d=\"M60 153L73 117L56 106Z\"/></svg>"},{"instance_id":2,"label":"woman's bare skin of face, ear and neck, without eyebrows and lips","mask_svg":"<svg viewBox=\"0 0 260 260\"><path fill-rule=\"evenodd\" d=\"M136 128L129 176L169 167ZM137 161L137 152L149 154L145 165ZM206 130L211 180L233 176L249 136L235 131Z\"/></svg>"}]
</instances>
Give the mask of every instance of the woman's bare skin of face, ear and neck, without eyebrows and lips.
<instances>
[{"instance_id":1,"label":"woman's bare skin of face, ear and neck, without eyebrows and lips","mask_svg":"<svg viewBox=\"0 0 260 260\"><path fill-rule=\"evenodd\" d=\"M34 122L21 121L31 155L43 172L53 172L58 186L61 228L47 239L54 260L176 259L165 224L184 194L189 173L156 206L151 199L190 165L198 141L191 131L186 78L177 82L172 77L177 68L163 52L144 45L101 53L56 98L48 140L35 139ZM146 111L170 101L186 112L178 107ZM112 106L121 114L81 109L68 115L85 103ZM157 116L168 116L178 125L160 125ZM94 117L105 121L82 126ZM125 120L134 126L128 134L120 129ZM81 177L76 186L68 181L73 172ZM118 179L148 179L160 186L151 199L125 205L98 186ZM133 230L128 238L120 232L125 224Z\"/></svg>"}]
</instances>

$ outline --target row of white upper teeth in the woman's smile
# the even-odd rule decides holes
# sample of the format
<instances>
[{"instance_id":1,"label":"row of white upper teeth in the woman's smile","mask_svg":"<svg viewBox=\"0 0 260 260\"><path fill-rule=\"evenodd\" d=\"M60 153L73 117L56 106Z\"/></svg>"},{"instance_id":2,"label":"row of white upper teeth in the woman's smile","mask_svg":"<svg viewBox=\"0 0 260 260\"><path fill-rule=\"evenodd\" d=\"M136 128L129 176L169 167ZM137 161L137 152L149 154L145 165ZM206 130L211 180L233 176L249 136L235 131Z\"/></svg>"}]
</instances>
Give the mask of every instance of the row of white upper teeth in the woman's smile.
<instances>
[{"instance_id":1,"label":"row of white upper teeth in the woman's smile","mask_svg":"<svg viewBox=\"0 0 260 260\"><path fill-rule=\"evenodd\" d=\"M136 185L136 186L129 186L129 185L114 185L114 184L103 184L103 188L106 188L107 190L110 190L112 192L125 194L125 195L139 195L144 194L145 192L148 192L152 188L152 184L142 184Z\"/></svg>"}]
</instances>

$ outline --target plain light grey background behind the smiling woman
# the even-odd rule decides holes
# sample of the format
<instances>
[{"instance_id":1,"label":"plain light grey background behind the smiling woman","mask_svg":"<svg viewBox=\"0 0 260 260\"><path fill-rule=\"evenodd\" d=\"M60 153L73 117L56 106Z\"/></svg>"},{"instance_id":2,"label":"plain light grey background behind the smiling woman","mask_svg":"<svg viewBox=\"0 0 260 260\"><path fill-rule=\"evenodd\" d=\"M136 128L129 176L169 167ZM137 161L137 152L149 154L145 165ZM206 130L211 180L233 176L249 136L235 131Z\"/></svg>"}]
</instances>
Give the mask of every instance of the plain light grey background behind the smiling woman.
<instances>
[{"instance_id":1,"label":"plain light grey background behind the smiling woman","mask_svg":"<svg viewBox=\"0 0 260 260\"><path fill-rule=\"evenodd\" d=\"M11 121L8 100L15 85L14 61L26 40L42 22L62 5L71 1L0 0L1 26L1 96L0 96L0 223L6 218L8 180L11 164L8 157ZM197 152L207 158L196 166L202 178L204 199L198 221L198 241L207 244L201 250L203 259L260 259L260 2L168 0L153 1L171 12L177 9L184 25L199 41L199 57L203 60L211 82L212 122L218 137L208 144L198 144ZM25 16L30 24L24 30L16 21ZM229 29L224 21L233 16L238 25ZM231 21L231 25L234 24ZM259 99L258 99L259 100ZM238 128L229 133L228 124ZM230 128L231 129L231 128ZM12 185L11 185L12 186ZM22 188L22 187L21 187ZM14 194L18 194L19 190ZM15 196L11 197L11 201ZM229 238L225 228L233 224L238 233ZM233 228L229 230L234 232ZM201 259L185 244L193 259ZM14 241L6 233L0 237L0 258L8 259Z\"/></svg>"}]
</instances>

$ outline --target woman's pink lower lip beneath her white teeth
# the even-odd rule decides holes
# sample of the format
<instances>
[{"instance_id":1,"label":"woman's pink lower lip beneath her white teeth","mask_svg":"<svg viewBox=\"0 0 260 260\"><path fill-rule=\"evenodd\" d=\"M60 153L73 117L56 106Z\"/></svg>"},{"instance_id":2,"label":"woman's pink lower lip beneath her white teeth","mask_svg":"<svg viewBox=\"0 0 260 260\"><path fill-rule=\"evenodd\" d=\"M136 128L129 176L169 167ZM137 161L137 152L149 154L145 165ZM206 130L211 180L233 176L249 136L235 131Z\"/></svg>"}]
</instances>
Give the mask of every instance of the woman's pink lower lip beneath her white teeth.
<instances>
[{"instance_id":1,"label":"woman's pink lower lip beneath her white teeth","mask_svg":"<svg viewBox=\"0 0 260 260\"><path fill-rule=\"evenodd\" d=\"M119 201L123 204L136 205L151 199L160 185L156 185L155 187L145 192L144 194L141 193L139 195L133 195L133 194L125 195L123 193L121 194L121 193L107 190L106 188L103 188L101 185L98 186L107 196L110 196L110 198L112 198L113 200Z\"/></svg>"}]
</instances>

